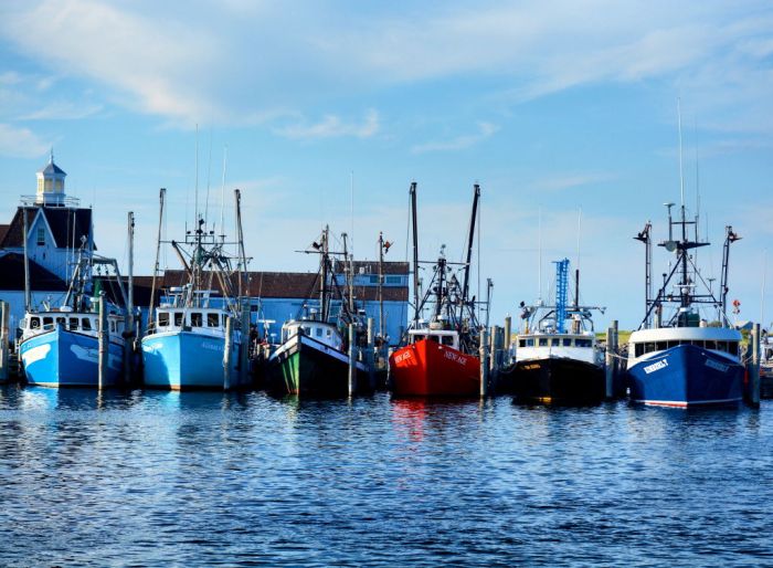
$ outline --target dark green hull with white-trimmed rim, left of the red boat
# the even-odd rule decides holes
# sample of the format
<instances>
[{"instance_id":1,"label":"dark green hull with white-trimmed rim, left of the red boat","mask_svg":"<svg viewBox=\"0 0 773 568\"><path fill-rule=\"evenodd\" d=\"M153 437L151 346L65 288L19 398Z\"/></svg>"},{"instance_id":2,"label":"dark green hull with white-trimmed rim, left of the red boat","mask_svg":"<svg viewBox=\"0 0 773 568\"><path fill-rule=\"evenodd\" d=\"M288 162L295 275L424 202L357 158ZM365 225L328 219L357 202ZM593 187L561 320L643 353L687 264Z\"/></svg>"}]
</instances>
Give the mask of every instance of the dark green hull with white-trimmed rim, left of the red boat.
<instances>
[{"instance_id":1,"label":"dark green hull with white-trimmed rim, left of the red boat","mask_svg":"<svg viewBox=\"0 0 773 568\"><path fill-rule=\"evenodd\" d=\"M290 337L271 357L267 388L304 397L342 397L349 393L349 358L346 354L305 336ZM368 369L357 362L358 392L373 390Z\"/></svg>"}]
</instances>

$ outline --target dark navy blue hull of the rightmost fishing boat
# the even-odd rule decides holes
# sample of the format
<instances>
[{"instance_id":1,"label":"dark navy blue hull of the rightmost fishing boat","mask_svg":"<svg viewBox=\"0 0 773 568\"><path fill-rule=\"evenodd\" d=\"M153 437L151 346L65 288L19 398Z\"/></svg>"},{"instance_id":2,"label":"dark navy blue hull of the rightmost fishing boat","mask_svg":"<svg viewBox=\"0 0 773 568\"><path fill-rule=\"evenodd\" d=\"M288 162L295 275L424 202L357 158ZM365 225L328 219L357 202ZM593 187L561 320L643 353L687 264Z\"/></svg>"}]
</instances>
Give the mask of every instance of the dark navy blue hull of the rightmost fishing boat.
<instances>
[{"instance_id":1,"label":"dark navy blue hull of the rightmost fishing boat","mask_svg":"<svg viewBox=\"0 0 773 568\"><path fill-rule=\"evenodd\" d=\"M628 369L631 398L667 407L729 404L743 396L743 367L707 349L679 345Z\"/></svg>"}]
</instances>

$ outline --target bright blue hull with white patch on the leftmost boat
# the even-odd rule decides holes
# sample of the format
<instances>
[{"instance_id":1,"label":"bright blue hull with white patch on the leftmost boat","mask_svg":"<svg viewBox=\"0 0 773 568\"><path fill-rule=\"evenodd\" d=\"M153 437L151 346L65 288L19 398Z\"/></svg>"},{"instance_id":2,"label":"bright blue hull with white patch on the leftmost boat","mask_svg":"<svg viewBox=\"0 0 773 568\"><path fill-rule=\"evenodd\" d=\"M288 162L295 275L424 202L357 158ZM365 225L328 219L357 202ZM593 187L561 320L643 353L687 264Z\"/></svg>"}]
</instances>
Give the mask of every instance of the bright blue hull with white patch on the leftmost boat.
<instances>
[{"instance_id":1,"label":"bright blue hull with white patch on the leftmost boat","mask_svg":"<svg viewBox=\"0 0 773 568\"><path fill-rule=\"evenodd\" d=\"M19 346L27 381L43 387L98 387L99 349L97 338L56 327L30 337ZM108 347L105 387L121 380L124 348Z\"/></svg>"}]
</instances>

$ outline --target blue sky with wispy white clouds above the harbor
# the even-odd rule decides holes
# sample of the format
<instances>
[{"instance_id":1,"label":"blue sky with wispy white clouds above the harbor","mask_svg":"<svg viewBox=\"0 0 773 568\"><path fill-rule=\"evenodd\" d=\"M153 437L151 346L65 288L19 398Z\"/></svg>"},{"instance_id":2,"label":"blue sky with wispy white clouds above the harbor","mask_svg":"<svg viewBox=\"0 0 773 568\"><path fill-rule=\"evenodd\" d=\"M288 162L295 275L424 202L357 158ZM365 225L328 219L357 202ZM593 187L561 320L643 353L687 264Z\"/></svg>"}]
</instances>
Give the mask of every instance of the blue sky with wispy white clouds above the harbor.
<instances>
[{"instance_id":1,"label":"blue sky with wispy white clouds above the harbor","mask_svg":"<svg viewBox=\"0 0 773 568\"><path fill-rule=\"evenodd\" d=\"M421 257L462 260L479 183L473 288L493 280L491 323L549 299L569 257L606 308L596 329L644 317L633 236L647 220L666 236L681 182L712 243L703 275L732 225L737 317L773 320L769 1L4 0L0 222L51 148L123 266L134 211L140 274L161 187L165 236L197 201L233 235L240 188L251 270L314 271L295 251L325 224L358 259L383 231L405 260L412 181ZM655 274L669 260L656 249Z\"/></svg>"}]
</instances>

